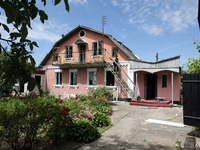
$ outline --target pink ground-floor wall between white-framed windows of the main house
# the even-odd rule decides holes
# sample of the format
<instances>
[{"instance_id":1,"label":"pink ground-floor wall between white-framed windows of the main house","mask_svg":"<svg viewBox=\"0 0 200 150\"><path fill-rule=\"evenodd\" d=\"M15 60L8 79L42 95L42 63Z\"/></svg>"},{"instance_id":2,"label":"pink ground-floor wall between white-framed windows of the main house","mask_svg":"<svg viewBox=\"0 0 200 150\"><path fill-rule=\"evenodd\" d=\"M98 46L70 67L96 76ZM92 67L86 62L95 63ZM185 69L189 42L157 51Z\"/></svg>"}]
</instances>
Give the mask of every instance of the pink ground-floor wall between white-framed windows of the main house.
<instances>
[{"instance_id":1,"label":"pink ground-floor wall between white-framed windows of the main house","mask_svg":"<svg viewBox=\"0 0 200 150\"><path fill-rule=\"evenodd\" d=\"M127 66L122 66L123 70L127 73ZM69 85L69 69L63 68L62 69L62 88L59 87L53 87L55 85L55 69L47 69L46 70L46 87L50 91L51 94L84 94L87 95L88 89L86 89L87 86L87 68L77 68L77 86L78 88L70 88L68 89ZM97 86L103 86L105 82L105 72L104 67L98 67L97 68ZM122 75L124 81L127 81L127 77L125 75ZM115 82L115 86L118 86L119 83ZM112 89L111 89L112 90ZM112 90L113 91L113 90ZM116 90L113 91L114 97L116 97ZM127 93L122 88L121 94L119 95L119 98L127 98Z\"/></svg>"}]
</instances>

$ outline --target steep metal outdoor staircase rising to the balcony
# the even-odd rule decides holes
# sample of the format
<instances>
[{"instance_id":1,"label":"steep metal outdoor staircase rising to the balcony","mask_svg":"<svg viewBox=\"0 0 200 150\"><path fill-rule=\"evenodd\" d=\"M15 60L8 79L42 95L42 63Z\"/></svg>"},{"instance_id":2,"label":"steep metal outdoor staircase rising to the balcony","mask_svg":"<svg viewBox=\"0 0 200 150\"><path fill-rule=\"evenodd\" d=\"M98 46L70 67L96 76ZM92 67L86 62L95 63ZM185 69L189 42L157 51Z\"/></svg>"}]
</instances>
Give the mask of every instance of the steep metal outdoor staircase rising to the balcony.
<instances>
[{"instance_id":1,"label":"steep metal outdoor staircase rising to the balcony","mask_svg":"<svg viewBox=\"0 0 200 150\"><path fill-rule=\"evenodd\" d=\"M109 55L109 57L112 59L112 56L108 53L108 51L105 49L105 52ZM132 99L135 99L135 90L136 90L136 86L134 85L133 81L129 78L129 76L126 74L126 72L120 67L120 65L115 61L113 60L117 66L119 67L119 69L125 74L125 76L131 81L131 83L133 84L134 86L134 90L132 90L128 84L115 72L113 66L111 65L111 63L109 62L106 62L106 66L109 68L109 70L112 72L112 74L115 76L115 78L117 79L117 81L119 82L119 84L123 87L123 89L129 94L129 96L132 98Z\"/></svg>"}]
</instances>

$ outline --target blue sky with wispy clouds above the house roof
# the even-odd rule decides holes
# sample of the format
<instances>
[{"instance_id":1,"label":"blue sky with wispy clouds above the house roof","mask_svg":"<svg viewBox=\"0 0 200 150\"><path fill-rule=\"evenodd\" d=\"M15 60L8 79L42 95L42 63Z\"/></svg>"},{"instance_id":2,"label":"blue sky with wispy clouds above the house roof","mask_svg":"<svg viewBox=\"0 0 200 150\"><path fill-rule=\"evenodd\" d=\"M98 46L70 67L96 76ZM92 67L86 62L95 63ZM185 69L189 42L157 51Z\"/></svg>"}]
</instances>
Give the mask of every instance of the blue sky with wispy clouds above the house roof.
<instances>
[{"instance_id":1,"label":"blue sky with wispy clouds above the house roof","mask_svg":"<svg viewBox=\"0 0 200 150\"><path fill-rule=\"evenodd\" d=\"M106 16L105 33L123 42L144 61L154 62L158 52L159 60L181 55L180 66L184 66L188 58L199 55L193 44L193 39L200 41L198 0L69 0L69 13L64 2L53 6L47 0L43 7L40 1L37 5L49 19L42 24L36 18L28 37L39 45L33 54L37 65L62 34L78 25L102 31L102 16ZM3 13L0 22L5 23Z\"/></svg>"}]
</instances>

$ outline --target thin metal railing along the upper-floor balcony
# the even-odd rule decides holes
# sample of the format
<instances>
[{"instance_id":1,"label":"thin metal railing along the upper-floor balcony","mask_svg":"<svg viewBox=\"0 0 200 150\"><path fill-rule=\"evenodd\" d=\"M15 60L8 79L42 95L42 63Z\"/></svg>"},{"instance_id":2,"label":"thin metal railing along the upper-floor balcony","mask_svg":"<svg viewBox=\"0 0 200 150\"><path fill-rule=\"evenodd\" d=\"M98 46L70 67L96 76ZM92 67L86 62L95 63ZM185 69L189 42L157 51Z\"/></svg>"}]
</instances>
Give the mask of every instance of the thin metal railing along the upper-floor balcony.
<instances>
[{"instance_id":1,"label":"thin metal railing along the upper-floor balcony","mask_svg":"<svg viewBox=\"0 0 200 150\"><path fill-rule=\"evenodd\" d=\"M73 53L54 53L52 56L53 65L73 65L73 64L97 64L103 63L105 58L104 50Z\"/></svg>"}]
</instances>

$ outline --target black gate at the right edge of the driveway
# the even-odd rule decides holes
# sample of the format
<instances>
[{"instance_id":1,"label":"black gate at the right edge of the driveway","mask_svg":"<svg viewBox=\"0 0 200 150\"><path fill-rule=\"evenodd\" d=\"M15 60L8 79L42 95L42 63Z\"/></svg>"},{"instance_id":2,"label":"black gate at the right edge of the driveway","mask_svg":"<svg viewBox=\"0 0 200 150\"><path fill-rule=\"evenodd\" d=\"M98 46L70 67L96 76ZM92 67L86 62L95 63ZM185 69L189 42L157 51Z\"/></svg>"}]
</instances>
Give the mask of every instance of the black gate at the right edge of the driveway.
<instances>
[{"instance_id":1,"label":"black gate at the right edge of the driveway","mask_svg":"<svg viewBox=\"0 0 200 150\"><path fill-rule=\"evenodd\" d=\"M200 127L200 74L183 74L184 124Z\"/></svg>"}]
</instances>

